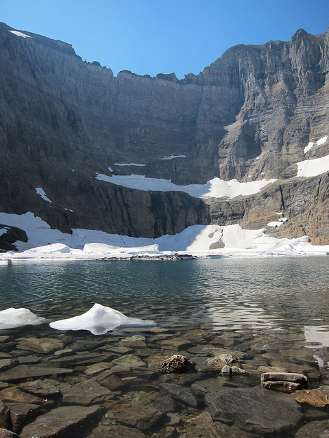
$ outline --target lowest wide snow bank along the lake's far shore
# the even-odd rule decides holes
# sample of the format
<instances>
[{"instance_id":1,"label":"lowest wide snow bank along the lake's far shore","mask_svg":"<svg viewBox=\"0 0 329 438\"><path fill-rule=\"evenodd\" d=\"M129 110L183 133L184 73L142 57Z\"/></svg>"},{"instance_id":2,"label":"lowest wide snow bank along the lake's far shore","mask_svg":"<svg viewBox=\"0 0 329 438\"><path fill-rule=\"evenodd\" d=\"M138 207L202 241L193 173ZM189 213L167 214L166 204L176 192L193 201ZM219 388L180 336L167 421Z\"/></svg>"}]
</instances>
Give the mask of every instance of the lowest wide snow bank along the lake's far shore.
<instances>
[{"instance_id":1,"label":"lowest wide snow bank along the lake's far shore","mask_svg":"<svg viewBox=\"0 0 329 438\"><path fill-rule=\"evenodd\" d=\"M287 218L280 218L277 226ZM18 216L0 214L0 223L19 227L27 233L29 242L15 242L19 253L3 253L1 259L129 259L133 256L174 255L188 253L198 257L238 255L326 255L327 246L313 246L308 237L278 239L265 234L265 229L245 230L239 224L193 225L176 235L157 239L107 234L103 231L73 229L72 234L50 229L46 222L32 213Z\"/></svg>"}]
</instances>

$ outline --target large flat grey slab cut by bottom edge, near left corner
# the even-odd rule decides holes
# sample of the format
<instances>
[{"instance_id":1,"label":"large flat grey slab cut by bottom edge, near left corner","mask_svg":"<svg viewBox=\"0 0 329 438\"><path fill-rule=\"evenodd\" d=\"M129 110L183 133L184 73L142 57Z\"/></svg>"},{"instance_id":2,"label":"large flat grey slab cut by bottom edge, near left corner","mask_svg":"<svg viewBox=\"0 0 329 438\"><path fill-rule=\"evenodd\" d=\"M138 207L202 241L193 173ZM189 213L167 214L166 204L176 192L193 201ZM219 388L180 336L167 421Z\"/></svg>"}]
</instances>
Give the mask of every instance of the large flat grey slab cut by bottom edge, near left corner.
<instances>
[{"instance_id":1,"label":"large flat grey slab cut by bottom edge, near left corner","mask_svg":"<svg viewBox=\"0 0 329 438\"><path fill-rule=\"evenodd\" d=\"M20 434L21 438L73 438L79 437L81 428L104 411L103 407L70 406L52 409L45 415L40 415L35 422L27 424Z\"/></svg>"}]
</instances>

